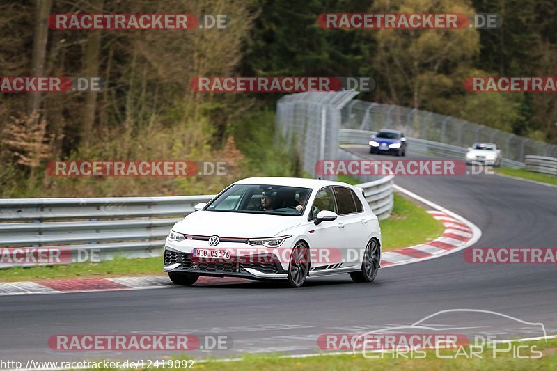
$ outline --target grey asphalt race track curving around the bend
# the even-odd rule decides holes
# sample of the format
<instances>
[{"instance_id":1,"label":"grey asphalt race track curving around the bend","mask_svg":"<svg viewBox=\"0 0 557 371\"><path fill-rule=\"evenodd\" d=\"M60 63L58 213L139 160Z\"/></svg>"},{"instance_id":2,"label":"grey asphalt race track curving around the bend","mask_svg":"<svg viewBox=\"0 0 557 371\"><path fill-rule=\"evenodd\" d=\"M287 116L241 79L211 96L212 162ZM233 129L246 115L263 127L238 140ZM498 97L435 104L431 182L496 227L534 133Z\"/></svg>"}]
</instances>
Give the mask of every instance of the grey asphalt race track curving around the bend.
<instances>
[{"instance_id":1,"label":"grey asphalt race track curving around the bend","mask_svg":"<svg viewBox=\"0 0 557 371\"><path fill-rule=\"evenodd\" d=\"M365 148L352 150L368 153ZM432 157L409 153L396 159L411 158ZM496 175L400 176L395 182L475 223L483 232L475 246L556 246L555 187ZM47 339L63 333L193 333L233 338L228 351L198 350L189 354L192 358L243 352L306 354L320 351L316 342L320 334L363 333L462 308L542 322L548 335L557 334L557 265L477 265L465 262L462 254L382 269L372 284L352 283L343 274L313 278L301 289L246 281L0 297L0 358L67 361L173 355L49 349ZM499 338L543 335L532 326L485 313L452 313L430 323L457 333L492 333Z\"/></svg>"}]
</instances>

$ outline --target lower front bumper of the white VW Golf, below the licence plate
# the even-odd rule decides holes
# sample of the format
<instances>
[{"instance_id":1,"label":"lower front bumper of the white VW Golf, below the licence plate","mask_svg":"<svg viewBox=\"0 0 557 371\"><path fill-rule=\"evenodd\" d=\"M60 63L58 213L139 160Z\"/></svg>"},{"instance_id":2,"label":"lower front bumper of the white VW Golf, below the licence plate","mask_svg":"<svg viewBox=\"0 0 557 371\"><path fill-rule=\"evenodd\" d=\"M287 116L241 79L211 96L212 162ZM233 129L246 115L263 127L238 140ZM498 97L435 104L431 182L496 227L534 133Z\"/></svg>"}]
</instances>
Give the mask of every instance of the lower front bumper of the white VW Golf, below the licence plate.
<instances>
[{"instance_id":1,"label":"lower front bumper of the white VW Golf, below the licence plate","mask_svg":"<svg viewBox=\"0 0 557 371\"><path fill-rule=\"evenodd\" d=\"M274 259L268 255L261 256L265 262L257 262L252 257L249 262L232 260L192 260L190 253L184 253L168 246L164 248L164 271L180 271L194 273L201 276L212 277L241 277L250 279L284 279L287 272L283 269L278 258ZM252 260L253 259L253 260Z\"/></svg>"}]
</instances>

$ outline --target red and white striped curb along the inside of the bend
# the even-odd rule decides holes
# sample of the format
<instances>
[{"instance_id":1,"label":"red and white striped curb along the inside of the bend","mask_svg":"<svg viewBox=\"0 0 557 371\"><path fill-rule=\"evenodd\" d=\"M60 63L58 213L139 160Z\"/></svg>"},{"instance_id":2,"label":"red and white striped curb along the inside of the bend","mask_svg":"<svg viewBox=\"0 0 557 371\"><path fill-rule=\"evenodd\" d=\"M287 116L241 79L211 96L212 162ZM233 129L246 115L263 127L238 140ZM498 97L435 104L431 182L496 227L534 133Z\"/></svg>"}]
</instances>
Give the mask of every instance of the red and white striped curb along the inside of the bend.
<instances>
[{"instance_id":1,"label":"red and white striped curb along the inside of the bend","mask_svg":"<svg viewBox=\"0 0 557 371\"><path fill-rule=\"evenodd\" d=\"M443 207L413 194L398 185L396 190L431 207L430 214L443 222L445 231L441 237L427 244L401 248L383 253L381 266L384 268L405 265L455 253L480 239L482 232L471 221ZM194 286L214 286L246 283L243 278L200 277ZM91 292L110 290L138 290L173 286L168 276L139 276L114 278L81 278L76 280L0 282L0 295L56 294L62 292Z\"/></svg>"}]
</instances>

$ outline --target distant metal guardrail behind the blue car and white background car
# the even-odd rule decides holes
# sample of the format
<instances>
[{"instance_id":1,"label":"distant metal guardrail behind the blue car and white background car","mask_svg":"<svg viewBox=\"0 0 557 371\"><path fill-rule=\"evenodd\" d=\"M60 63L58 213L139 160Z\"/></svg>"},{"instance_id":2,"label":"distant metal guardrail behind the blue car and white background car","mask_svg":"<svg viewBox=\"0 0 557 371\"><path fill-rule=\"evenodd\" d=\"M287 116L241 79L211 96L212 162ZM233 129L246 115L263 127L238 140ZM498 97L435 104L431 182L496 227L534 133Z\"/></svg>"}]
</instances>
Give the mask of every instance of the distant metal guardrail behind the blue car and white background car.
<instances>
[{"instance_id":1,"label":"distant metal guardrail behind the blue car and white background car","mask_svg":"<svg viewBox=\"0 0 557 371\"><path fill-rule=\"evenodd\" d=\"M372 132L368 130L356 130L356 129L342 129L340 130L339 140L341 144L361 144L368 145L370 141L370 136L372 134L377 134L377 132ZM431 153L434 155L439 155L446 157L448 159L462 159L466 155L467 148L459 147L458 145L439 143L434 141L426 141L425 139L411 138L407 137L408 150L420 153ZM519 161L513 161L511 159L503 158L501 162L502 166L509 168L523 168L524 163Z\"/></svg>"}]
</instances>

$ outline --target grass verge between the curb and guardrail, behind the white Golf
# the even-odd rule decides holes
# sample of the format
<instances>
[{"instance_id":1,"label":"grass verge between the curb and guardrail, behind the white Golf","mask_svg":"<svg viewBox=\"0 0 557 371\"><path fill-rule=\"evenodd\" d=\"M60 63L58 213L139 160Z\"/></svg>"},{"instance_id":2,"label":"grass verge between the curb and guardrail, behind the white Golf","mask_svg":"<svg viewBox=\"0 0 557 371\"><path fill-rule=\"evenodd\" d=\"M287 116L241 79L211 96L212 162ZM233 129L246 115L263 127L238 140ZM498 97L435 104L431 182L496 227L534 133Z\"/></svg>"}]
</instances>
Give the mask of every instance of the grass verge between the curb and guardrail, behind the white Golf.
<instances>
[{"instance_id":1,"label":"grass verge between the curb and guardrail, behind the white Golf","mask_svg":"<svg viewBox=\"0 0 557 371\"><path fill-rule=\"evenodd\" d=\"M353 178L350 181L358 182ZM421 244L441 235L444 230L440 221L433 219L421 207L397 194L395 194L393 214L380 224L383 251ZM0 282L154 274L164 274L162 258L117 258L98 263L0 269Z\"/></svg>"}]
</instances>

